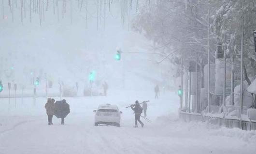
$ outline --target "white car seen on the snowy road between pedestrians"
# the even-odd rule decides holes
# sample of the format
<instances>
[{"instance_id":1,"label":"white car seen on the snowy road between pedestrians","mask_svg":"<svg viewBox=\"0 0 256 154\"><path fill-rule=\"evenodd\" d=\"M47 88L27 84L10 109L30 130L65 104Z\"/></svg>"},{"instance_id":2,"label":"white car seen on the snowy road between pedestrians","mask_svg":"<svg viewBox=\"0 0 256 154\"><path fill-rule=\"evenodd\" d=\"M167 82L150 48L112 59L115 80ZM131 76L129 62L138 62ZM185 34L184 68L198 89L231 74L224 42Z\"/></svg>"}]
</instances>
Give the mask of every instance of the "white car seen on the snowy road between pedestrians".
<instances>
[{"instance_id":1,"label":"white car seen on the snowy road between pedestrians","mask_svg":"<svg viewBox=\"0 0 256 154\"><path fill-rule=\"evenodd\" d=\"M98 107L98 110L94 110L93 112L96 113L94 123L95 126L103 124L120 127L120 114L122 114L122 112L119 111L116 105L102 104Z\"/></svg>"}]
</instances>

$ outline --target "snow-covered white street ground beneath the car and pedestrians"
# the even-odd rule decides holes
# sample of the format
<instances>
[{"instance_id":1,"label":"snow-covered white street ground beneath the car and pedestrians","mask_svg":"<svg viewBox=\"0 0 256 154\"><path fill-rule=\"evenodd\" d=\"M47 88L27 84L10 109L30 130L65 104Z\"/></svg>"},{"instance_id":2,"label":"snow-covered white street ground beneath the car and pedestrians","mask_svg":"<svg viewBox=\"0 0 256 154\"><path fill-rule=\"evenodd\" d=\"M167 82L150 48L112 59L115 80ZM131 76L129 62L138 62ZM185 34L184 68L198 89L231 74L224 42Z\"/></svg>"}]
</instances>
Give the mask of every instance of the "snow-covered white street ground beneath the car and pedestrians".
<instances>
[{"instance_id":1,"label":"snow-covered white street ground beneath the car and pedestrians","mask_svg":"<svg viewBox=\"0 0 256 154\"><path fill-rule=\"evenodd\" d=\"M57 99L57 98L56 98ZM65 98L71 114L60 125L47 125L45 98L0 99L0 154L255 154L256 131L218 128L178 119L178 97L152 91L110 91L107 97ZM133 128L134 116L125 106L150 100L144 128ZM94 126L93 110L100 103L115 103L123 111L121 127Z\"/></svg>"}]
</instances>

